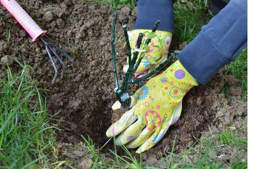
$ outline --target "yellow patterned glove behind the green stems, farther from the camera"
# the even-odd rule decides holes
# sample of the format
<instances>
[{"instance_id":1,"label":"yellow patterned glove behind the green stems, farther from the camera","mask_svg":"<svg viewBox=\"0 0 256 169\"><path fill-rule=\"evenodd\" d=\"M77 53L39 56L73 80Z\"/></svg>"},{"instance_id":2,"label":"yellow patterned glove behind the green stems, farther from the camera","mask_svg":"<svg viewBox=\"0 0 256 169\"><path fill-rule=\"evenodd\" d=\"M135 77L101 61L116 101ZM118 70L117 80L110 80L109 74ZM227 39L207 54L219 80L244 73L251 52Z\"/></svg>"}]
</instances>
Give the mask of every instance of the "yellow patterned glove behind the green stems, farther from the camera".
<instances>
[{"instance_id":1,"label":"yellow patterned glove behind the green stems, farther from the camera","mask_svg":"<svg viewBox=\"0 0 256 169\"><path fill-rule=\"evenodd\" d=\"M134 52L133 49L137 43L138 35L144 32L151 32L151 30L136 29L133 31L128 31L128 37L130 41L132 54ZM160 63L163 63L167 59L169 46L172 41L172 32L157 30L156 34L157 34L157 37L152 38L151 43L149 43L149 51L145 54L145 57L141 61L140 66L136 71L137 74L142 72L145 72L146 74L148 74L151 71L153 71L154 68L159 66ZM145 35L147 35L147 33L145 33ZM144 39L147 39L147 37L144 36L143 40ZM163 39L164 44L161 44L159 39L160 40ZM138 56L140 56L140 53ZM127 63L128 63L128 58L127 58ZM123 71L126 73L128 68L129 66L125 65L123 67Z\"/></svg>"}]
</instances>

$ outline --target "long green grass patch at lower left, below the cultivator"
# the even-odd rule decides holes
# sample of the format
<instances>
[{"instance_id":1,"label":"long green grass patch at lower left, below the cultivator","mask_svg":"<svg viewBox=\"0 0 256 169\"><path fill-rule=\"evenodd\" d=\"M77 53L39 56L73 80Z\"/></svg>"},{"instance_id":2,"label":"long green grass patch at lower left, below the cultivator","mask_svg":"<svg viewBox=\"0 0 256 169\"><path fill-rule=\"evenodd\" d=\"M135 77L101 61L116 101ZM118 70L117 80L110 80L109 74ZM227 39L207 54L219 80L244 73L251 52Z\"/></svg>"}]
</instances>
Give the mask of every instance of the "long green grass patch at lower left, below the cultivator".
<instances>
[{"instance_id":1,"label":"long green grass patch at lower left, below the cultivator","mask_svg":"<svg viewBox=\"0 0 256 169\"><path fill-rule=\"evenodd\" d=\"M20 66L13 74L7 64L0 79L0 168L45 166L55 137L42 97L45 91L29 76L32 67Z\"/></svg>"}]
</instances>

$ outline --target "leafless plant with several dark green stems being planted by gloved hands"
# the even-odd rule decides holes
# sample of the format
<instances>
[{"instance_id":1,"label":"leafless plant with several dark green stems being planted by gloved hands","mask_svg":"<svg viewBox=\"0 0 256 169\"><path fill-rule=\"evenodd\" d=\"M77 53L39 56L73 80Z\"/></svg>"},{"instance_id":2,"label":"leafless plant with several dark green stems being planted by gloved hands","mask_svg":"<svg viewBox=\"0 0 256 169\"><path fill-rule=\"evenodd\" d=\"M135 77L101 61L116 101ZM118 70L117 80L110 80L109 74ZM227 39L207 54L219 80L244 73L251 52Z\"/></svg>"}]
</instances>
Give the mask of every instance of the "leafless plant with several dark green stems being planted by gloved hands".
<instances>
[{"instance_id":1,"label":"leafless plant with several dark green stems being planted by gloved hands","mask_svg":"<svg viewBox=\"0 0 256 169\"><path fill-rule=\"evenodd\" d=\"M114 79L115 79L115 85L116 85L116 88L115 88L114 91L116 93L117 100L121 103L121 106L124 109L128 109L131 105L131 95L133 95L132 92L127 91L128 84L140 83L143 80L146 80L149 77L152 77L154 74L157 74L157 72L159 72L164 66L166 66L172 60L172 58L175 57L179 53L179 51L175 51L166 61L161 63L152 72L150 72L148 74L145 74L145 73L138 74L135 77L133 77L133 75L136 72L136 70L138 69L143 57L145 56L145 53L148 52L148 48L149 48L148 44L151 42L152 38L157 36L155 34L155 32L157 30L157 27L160 24L160 21L158 20L154 24L154 28L152 29L152 32L143 32L143 33L139 34L139 37L138 37L138 40L137 40L132 58L131 58L131 46L130 46L130 42L129 42L129 38L128 38L126 25L123 25L125 40L126 40L126 46L127 46L127 50L128 50L128 65L129 65L129 68L127 70L127 73L125 73L122 85L119 86L117 73L116 73L116 51L115 51L116 17L117 17L117 12L115 12L115 14L114 14L113 28L112 28L112 61L113 61L113 73L114 73ZM145 33L147 33L147 35L145 35ZM143 36L146 36L148 39L143 40ZM159 38L159 40L160 40L160 38ZM143 45L141 45L141 44L143 44ZM137 60L139 52L140 52L140 56L139 56L139 59ZM136 60L137 60L137 63L136 63ZM138 78L141 75L143 75L143 77Z\"/></svg>"}]
</instances>

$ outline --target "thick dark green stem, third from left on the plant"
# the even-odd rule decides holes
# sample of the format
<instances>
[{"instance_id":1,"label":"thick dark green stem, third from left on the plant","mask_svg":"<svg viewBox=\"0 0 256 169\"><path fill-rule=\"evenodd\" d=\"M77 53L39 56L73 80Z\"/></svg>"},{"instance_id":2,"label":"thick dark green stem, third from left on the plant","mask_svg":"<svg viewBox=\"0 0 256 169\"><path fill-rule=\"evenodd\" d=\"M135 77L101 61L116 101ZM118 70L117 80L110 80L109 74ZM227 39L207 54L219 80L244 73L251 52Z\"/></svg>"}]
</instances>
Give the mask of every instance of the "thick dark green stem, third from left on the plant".
<instances>
[{"instance_id":1,"label":"thick dark green stem, third from left on the plant","mask_svg":"<svg viewBox=\"0 0 256 169\"><path fill-rule=\"evenodd\" d=\"M140 33L135 48L140 49L142 37L143 37L143 33ZM138 54L139 54L139 52L135 52L135 51L134 51L134 53L133 53L133 58L132 58L132 60L131 60L131 66L129 66L129 68L128 68L128 70L127 70L127 73L125 74L125 77L124 77L122 86L121 86L121 90L122 90L122 91L125 91L125 90L126 90L126 88L127 88L127 86L128 86L128 81L130 81L131 76L133 75L133 74L132 74L132 70L133 70L132 68L133 68L134 65L135 65L135 62L136 62L137 57L138 57Z\"/></svg>"}]
</instances>

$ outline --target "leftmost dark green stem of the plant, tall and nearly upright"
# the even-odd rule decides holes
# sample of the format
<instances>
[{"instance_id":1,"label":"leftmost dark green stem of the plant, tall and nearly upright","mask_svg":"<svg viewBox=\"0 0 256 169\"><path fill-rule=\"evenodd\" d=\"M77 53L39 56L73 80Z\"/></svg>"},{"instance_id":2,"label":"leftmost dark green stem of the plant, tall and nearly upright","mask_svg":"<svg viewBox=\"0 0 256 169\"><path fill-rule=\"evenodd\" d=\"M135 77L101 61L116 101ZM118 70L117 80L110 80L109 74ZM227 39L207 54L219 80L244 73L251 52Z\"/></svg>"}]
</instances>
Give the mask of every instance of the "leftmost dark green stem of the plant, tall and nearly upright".
<instances>
[{"instance_id":1,"label":"leftmost dark green stem of the plant, tall and nearly upright","mask_svg":"<svg viewBox=\"0 0 256 169\"><path fill-rule=\"evenodd\" d=\"M112 44L113 73L114 73L116 87L119 88L118 79L117 79L117 73L116 73L116 49L115 49L116 16L117 16L117 12L115 12L114 18L113 18L112 41L111 41L111 44Z\"/></svg>"}]
</instances>

